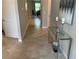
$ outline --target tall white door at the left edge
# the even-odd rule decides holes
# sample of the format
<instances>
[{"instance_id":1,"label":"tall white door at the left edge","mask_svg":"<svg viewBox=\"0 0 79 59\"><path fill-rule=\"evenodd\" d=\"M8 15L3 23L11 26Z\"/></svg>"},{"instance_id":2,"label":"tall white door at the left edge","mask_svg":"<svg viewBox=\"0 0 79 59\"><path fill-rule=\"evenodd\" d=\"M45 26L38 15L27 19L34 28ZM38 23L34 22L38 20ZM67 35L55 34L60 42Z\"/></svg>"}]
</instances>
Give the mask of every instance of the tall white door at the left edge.
<instances>
[{"instance_id":1,"label":"tall white door at the left edge","mask_svg":"<svg viewBox=\"0 0 79 59\"><path fill-rule=\"evenodd\" d=\"M18 26L16 18L16 0L3 0L2 1L2 19L3 19L3 29L7 37L18 38Z\"/></svg>"}]
</instances>

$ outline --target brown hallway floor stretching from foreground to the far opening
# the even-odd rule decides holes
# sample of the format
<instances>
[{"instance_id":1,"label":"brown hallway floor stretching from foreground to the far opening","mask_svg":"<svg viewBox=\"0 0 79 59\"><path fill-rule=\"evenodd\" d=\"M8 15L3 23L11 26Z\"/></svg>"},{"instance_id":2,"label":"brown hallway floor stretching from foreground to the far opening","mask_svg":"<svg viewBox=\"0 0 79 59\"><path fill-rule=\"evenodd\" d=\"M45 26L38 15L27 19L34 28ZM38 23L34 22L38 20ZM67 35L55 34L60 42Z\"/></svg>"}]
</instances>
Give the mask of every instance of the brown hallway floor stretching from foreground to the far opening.
<instances>
[{"instance_id":1,"label":"brown hallway floor stretching from foreground to the far opening","mask_svg":"<svg viewBox=\"0 0 79 59\"><path fill-rule=\"evenodd\" d=\"M3 39L3 59L55 59L48 44L47 29L29 26L22 43L13 38Z\"/></svg>"}]
</instances>

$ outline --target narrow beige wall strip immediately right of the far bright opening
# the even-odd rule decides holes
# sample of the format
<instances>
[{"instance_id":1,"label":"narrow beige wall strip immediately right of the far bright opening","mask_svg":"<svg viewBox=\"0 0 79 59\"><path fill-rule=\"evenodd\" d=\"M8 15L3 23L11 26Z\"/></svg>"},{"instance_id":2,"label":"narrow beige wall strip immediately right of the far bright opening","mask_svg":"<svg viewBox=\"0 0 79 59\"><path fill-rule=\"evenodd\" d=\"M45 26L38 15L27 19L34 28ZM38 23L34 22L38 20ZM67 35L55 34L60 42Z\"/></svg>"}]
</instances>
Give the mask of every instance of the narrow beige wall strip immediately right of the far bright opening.
<instances>
[{"instance_id":1,"label":"narrow beige wall strip immediately right of the far bright opening","mask_svg":"<svg viewBox=\"0 0 79 59\"><path fill-rule=\"evenodd\" d=\"M47 27L48 21L48 0L41 0L42 4L42 27Z\"/></svg>"}]
</instances>

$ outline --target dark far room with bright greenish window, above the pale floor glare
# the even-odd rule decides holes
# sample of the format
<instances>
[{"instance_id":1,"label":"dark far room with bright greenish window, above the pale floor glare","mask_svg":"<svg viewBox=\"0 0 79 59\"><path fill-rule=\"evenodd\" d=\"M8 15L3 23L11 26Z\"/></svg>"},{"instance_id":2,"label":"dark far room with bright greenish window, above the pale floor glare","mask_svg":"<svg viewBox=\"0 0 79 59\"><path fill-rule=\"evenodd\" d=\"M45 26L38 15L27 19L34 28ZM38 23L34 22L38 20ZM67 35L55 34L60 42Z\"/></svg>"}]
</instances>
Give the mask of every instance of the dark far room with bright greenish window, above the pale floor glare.
<instances>
[{"instance_id":1,"label":"dark far room with bright greenish window, above the pale floor glare","mask_svg":"<svg viewBox=\"0 0 79 59\"><path fill-rule=\"evenodd\" d=\"M32 15L33 16L41 15L41 0L32 1Z\"/></svg>"}]
</instances>

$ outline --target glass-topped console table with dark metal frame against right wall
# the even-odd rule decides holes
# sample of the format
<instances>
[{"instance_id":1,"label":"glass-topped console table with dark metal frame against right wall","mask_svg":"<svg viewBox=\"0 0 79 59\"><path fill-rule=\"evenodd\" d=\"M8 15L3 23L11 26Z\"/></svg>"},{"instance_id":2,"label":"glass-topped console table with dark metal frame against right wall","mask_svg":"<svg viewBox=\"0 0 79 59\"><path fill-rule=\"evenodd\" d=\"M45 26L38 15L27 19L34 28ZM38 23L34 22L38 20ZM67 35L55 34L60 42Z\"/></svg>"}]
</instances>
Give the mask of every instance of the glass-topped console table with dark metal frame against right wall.
<instances>
[{"instance_id":1,"label":"glass-topped console table with dark metal frame against right wall","mask_svg":"<svg viewBox=\"0 0 79 59\"><path fill-rule=\"evenodd\" d=\"M66 32L59 30L56 27L50 27L48 33L51 36L51 39L53 39L51 43L53 51L53 43L58 44L57 51L54 51L57 55L56 59L69 59L72 38Z\"/></svg>"}]
</instances>

